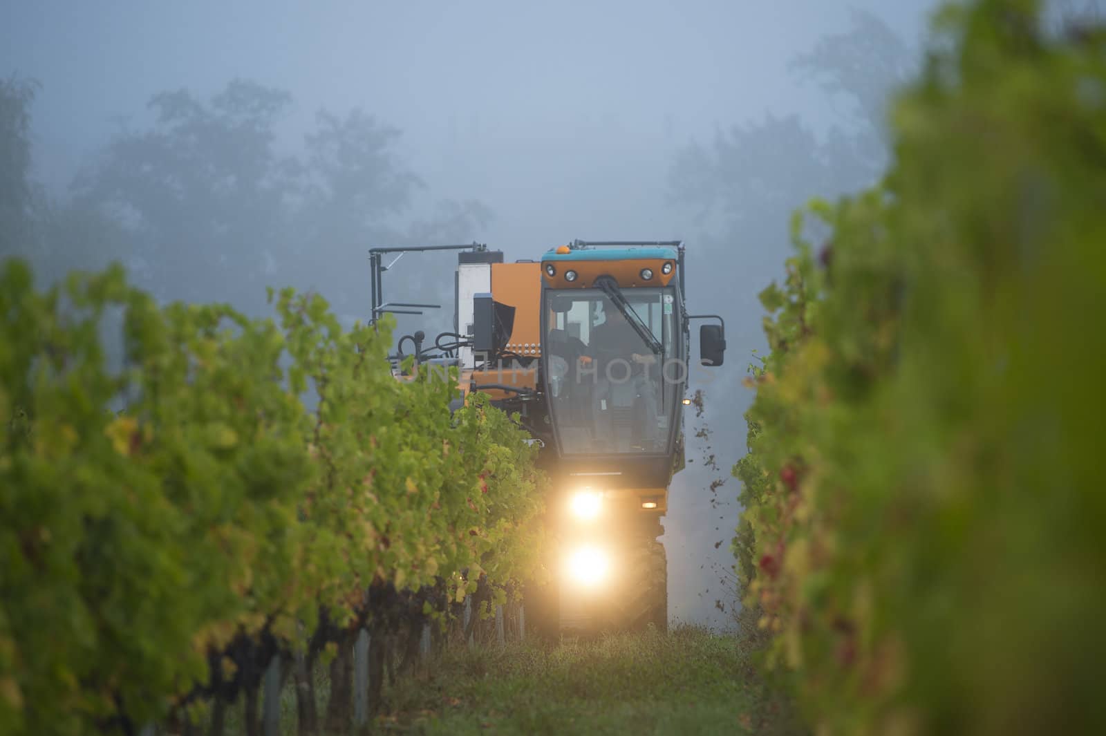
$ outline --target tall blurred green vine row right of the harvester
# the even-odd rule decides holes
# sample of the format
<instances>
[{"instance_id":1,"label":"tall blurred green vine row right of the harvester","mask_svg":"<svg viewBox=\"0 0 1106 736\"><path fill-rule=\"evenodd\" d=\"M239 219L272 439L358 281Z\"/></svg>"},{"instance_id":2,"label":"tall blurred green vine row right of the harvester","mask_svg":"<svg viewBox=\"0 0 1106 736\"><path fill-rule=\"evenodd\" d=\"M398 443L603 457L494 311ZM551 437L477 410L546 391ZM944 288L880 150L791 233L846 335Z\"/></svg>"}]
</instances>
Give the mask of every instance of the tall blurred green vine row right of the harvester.
<instances>
[{"instance_id":1,"label":"tall blurred green vine row right of the harvester","mask_svg":"<svg viewBox=\"0 0 1106 736\"><path fill-rule=\"evenodd\" d=\"M1106 733L1106 28L992 0L933 49L761 294L747 604L820 733Z\"/></svg>"}]
</instances>

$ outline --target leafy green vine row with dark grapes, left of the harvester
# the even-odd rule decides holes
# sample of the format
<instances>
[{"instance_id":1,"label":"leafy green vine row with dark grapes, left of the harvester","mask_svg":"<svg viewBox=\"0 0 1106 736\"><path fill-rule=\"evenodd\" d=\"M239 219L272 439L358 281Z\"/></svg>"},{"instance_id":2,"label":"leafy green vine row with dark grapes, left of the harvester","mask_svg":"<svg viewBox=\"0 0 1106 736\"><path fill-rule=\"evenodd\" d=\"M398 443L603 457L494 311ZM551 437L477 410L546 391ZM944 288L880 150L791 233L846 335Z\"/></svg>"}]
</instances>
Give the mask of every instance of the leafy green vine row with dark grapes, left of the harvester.
<instances>
[{"instance_id":1,"label":"leafy green vine row with dark grapes, left of the harvester","mask_svg":"<svg viewBox=\"0 0 1106 736\"><path fill-rule=\"evenodd\" d=\"M535 571L528 435L479 399L450 414L455 381L395 380L387 326L344 332L291 290L278 308L158 306L119 269L41 293L0 267L0 733L209 704L218 733L240 694L255 730L274 655L348 680L361 627L415 637Z\"/></svg>"}]
</instances>

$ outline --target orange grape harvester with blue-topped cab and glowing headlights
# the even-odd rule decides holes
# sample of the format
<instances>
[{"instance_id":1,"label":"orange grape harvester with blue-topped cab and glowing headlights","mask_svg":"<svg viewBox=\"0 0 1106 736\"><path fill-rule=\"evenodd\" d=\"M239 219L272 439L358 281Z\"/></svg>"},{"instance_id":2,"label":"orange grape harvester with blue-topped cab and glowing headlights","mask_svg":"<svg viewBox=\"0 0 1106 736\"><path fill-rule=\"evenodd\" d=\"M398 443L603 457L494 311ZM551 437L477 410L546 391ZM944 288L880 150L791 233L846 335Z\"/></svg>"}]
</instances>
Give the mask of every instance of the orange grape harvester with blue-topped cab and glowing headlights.
<instances>
[{"instance_id":1,"label":"orange grape harvester with blue-topped cab and glowing headlights","mask_svg":"<svg viewBox=\"0 0 1106 736\"><path fill-rule=\"evenodd\" d=\"M685 464L691 320L717 322L700 327L700 365L721 366L726 349L722 318L686 309L684 243L577 240L514 263L480 243L375 248L374 323L440 307L384 301L385 257L426 251L457 252L453 330L401 336L394 369L411 356L409 370L456 367L457 401L487 393L540 444L552 576L526 586L528 620L546 633L665 630L658 537Z\"/></svg>"}]
</instances>

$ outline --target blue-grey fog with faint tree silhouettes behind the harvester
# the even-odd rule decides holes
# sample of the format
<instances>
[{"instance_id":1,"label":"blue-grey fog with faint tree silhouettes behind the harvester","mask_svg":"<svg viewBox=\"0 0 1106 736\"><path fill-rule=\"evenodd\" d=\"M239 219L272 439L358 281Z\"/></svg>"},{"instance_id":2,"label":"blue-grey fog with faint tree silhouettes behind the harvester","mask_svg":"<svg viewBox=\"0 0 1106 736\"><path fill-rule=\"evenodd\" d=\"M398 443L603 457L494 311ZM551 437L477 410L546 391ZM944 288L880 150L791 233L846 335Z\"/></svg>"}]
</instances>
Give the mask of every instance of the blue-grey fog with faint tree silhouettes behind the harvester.
<instances>
[{"instance_id":1,"label":"blue-grey fog with faint tree silhouettes behind the harvester","mask_svg":"<svg viewBox=\"0 0 1106 736\"><path fill-rule=\"evenodd\" d=\"M44 278L121 259L161 298L257 314L267 284L292 284L352 320L371 245L477 240L514 260L684 239L688 306L722 315L729 347L693 375L707 411L687 418L665 521L669 610L726 627L757 293L794 208L878 177L881 104L931 6L6 3L0 230L18 236L0 256ZM389 296L448 304L450 257L405 260Z\"/></svg>"}]
</instances>

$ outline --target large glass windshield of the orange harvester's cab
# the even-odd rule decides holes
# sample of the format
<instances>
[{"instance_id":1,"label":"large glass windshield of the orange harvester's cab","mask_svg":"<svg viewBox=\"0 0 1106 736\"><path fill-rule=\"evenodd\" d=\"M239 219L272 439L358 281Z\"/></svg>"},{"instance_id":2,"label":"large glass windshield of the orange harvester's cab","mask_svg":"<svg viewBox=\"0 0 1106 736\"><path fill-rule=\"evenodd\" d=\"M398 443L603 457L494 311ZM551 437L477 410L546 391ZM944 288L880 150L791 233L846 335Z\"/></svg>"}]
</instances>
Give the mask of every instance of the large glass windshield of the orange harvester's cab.
<instances>
[{"instance_id":1,"label":"large glass windshield of the orange harvester's cab","mask_svg":"<svg viewBox=\"0 0 1106 736\"><path fill-rule=\"evenodd\" d=\"M668 451L686 370L676 355L675 291L623 295L661 347L643 339L599 290L550 290L543 354L550 411L565 454ZM667 380L666 380L667 379Z\"/></svg>"}]
</instances>

